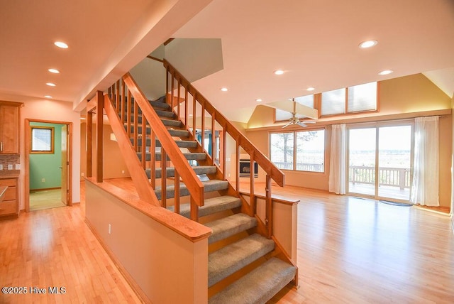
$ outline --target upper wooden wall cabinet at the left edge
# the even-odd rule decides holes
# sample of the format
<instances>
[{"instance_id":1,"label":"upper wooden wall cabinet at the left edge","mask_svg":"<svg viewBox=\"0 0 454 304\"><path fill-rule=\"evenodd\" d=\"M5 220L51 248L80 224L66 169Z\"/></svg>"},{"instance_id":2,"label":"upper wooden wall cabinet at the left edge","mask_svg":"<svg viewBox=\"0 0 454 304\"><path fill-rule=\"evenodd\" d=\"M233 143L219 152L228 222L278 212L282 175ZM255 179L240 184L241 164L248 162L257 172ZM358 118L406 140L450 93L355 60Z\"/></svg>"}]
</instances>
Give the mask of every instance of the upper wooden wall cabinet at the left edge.
<instances>
[{"instance_id":1,"label":"upper wooden wall cabinet at the left edge","mask_svg":"<svg viewBox=\"0 0 454 304\"><path fill-rule=\"evenodd\" d=\"M0 154L19 153L19 110L21 103L0 102Z\"/></svg>"}]
</instances>

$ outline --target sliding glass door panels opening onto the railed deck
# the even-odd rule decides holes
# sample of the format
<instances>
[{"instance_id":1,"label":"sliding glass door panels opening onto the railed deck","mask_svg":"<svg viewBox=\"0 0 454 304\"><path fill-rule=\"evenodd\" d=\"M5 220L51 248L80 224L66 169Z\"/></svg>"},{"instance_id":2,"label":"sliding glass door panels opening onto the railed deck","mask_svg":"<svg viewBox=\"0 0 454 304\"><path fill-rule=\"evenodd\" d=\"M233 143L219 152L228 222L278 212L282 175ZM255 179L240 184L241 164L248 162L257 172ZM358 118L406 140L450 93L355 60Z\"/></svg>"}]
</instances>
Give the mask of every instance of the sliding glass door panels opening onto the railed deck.
<instances>
[{"instance_id":1,"label":"sliding glass door panels opening onto the railed deck","mask_svg":"<svg viewBox=\"0 0 454 304\"><path fill-rule=\"evenodd\" d=\"M362 126L348 131L348 192L409 202L412 124Z\"/></svg>"}]
</instances>

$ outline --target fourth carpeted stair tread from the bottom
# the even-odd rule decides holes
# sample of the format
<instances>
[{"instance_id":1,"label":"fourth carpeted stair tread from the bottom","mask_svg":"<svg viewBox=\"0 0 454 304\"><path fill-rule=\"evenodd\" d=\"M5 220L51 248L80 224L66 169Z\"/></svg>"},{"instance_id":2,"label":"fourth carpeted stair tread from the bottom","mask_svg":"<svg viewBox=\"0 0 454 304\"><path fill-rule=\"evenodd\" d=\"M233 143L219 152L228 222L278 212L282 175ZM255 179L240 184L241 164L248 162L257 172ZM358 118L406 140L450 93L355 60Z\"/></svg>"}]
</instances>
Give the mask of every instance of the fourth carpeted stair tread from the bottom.
<instances>
[{"instance_id":1,"label":"fourth carpeted stair tread from the bottom","mask_svg":"<svg viewBox=\"0 0 454 304\"><path fill-rule=\"evenodd\" d=\"M229 210L241 206L241 200L238 197L231 195L223 195L219 197L211 197L205 199L205 203L202 207L199 207L199 217L205 217L206 215L212 215L216 212ZM174 211L174 207L167 207L168 210ZM179 205L179 214L183 217L189 218L191 216L191 205L181 204Z\"/></svg>"}]
</instances>

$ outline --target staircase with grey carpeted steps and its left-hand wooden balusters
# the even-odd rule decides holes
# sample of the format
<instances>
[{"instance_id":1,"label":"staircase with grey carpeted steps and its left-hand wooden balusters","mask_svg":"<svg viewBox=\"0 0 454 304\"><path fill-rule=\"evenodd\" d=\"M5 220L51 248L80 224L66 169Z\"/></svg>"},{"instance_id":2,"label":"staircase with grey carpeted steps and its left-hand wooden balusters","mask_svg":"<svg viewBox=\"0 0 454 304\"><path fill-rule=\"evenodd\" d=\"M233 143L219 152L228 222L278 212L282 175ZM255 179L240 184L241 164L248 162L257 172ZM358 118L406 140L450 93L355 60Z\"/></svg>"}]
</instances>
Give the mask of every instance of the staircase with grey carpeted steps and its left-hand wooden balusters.
<instances>
[{"instance_id":1,"label":"staircase with grey carpeted steps and its left-hand wooden balusters","mask_svg":"<svg viewBox=\"0 0 454 304\"><path fill-rule=\"evenodd\" d=\"M131 84L127 85L131 87ZM134 101L136 95L118 97L118 94L114 94L118 88L117 82L116 88L114 86L109 92L112 106L118 114L116 119L121 121L130 137L128 142L143 165L143 172L160 205L195 219L213 231L208 240L209 303L266 303L288 283L297 282L297 267L282 259L282 249L278 248L270 235L266 235L270 231L269 227L258 220L253 204L245 205L238 190L223 178L225 173L221 172L220 167L225 170L225 163L215 165L214 154L210 156L206 153L202 148L203 141L196 141L195 124L185 125L179 119L179 106L178 113L174 112L175 106L167 104L166 98L162 97L138 107L138 102ZM167 99L173 100L173 94ZM147 107L149 109L145 109ZM150 109L153 109L182 157L190 164L190 169L198 178L197 183L201 183L203 201L197 203L198 206L191 193L194 190L181 180L181 168L175 168L169 151L166 153L163 143L152 131L156 122L150 123L150 116L143 116L143 112ZM184 120L187 121L187 115Z\"/></svg>"}]
</instances>

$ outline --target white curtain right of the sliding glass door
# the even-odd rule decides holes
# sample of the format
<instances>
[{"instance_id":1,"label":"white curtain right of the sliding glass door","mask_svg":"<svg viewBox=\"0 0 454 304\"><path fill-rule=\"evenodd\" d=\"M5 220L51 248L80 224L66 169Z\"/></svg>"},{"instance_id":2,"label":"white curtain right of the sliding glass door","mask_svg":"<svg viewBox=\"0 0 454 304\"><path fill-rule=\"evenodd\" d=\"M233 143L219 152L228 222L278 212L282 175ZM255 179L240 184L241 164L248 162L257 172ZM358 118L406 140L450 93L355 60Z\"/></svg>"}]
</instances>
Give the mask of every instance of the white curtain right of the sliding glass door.
<instances>
[{"instance_id":1,"label":"white curtain right of the sliding glass door","mask_svg":"<svg viewBox=\"0 0 454 304\"><path fill-rule=\"evenodd\" d=\"M410 202L438 206L438 116L415 119Z\"/></svg>"}]
</instances>

